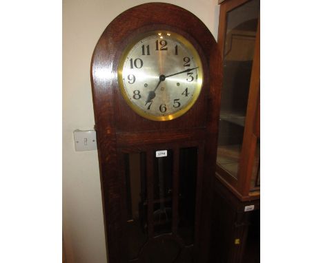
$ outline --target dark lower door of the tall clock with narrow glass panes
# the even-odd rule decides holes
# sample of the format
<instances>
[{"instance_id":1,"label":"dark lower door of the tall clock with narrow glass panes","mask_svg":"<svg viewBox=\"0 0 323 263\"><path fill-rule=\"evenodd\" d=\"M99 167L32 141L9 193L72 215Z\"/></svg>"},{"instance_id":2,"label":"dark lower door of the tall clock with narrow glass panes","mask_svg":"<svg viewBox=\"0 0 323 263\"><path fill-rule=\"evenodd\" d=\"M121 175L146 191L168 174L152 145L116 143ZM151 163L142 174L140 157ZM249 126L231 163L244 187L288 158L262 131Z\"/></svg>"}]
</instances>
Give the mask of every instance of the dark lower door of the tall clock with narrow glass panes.
<instances>
[{"instance_id":1,"label":"dark lower door of the tall clock with narrow glass panes","mask_svg":"<svg viewBox=\"0 0 323 263\"><path fill-rule=\"evenodd\" d=\"M119 152L126 262L194 262L202 143Z\"/></svg>"}]
</instances>

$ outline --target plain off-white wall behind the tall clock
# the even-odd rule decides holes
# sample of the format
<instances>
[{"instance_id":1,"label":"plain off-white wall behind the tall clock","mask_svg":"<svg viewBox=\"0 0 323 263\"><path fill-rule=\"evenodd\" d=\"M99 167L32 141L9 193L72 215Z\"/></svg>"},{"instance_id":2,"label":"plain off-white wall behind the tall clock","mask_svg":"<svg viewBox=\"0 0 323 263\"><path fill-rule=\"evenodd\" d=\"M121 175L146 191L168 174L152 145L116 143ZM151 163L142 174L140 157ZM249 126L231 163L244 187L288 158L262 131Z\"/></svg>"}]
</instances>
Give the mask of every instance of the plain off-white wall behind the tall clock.
<instances>
[{"instance_id":1,"label":"plain off-white wall behind the tall clock","mask_svg":"<svg viewBox=\"0 0 323 263\"><path fill-rule=\"evenodd\" d=\"M104 219L97 151L74 149L75 129L92 129L94 114L90 61L108 23L118 14L150 1L63 0L63 244L67 263L104 263ZM217 0L177 0L217 39Z\"/></svg>"}]
</instances>

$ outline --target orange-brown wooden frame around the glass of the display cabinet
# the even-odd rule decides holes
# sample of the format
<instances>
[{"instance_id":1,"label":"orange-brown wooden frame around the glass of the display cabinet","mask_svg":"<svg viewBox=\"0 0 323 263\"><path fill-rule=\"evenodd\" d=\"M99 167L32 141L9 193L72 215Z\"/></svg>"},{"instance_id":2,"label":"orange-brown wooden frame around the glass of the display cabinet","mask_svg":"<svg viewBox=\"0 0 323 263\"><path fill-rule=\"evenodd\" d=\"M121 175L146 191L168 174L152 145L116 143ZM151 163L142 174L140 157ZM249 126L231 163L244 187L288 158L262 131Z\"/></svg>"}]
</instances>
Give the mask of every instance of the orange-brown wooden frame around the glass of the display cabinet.
<instances>
[{"instance_id":1,"label":"orange-brown wooden frame around the glass of the display cabinet","mask_svg":"<svg viewBox=\"0 0 323 263\"><path fill-rule=\"evenodd\" d=\"M221 3L219 12L218 43L222 56L224 56L224 44L226 41L226 21L228 12L242 6L250 0L225 0ZM255 160L257 139L260 138L260 17L257 24L255 37L255 50L253 54L253 66L248 93L248 105L246 109L246 121L244 124L244 136L242 151L239 159L237 178L231 176L228 171L217 165L216 176L226 185L240 200L257 200L260 198L260 187L251 188L251 176Z\"/></svg>"}]
</instances>

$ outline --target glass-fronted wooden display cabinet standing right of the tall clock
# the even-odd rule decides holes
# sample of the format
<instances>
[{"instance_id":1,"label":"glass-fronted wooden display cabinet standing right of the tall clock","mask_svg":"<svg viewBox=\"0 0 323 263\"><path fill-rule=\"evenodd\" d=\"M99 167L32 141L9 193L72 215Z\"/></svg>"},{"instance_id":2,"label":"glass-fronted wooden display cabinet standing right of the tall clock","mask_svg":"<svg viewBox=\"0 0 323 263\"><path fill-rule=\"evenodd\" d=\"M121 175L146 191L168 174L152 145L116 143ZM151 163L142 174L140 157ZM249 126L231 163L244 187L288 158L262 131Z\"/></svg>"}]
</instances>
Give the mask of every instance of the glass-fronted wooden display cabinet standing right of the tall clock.
<instances>
[{"instance_id":1,"label":"glass-fronted wooden display cabinet standing right of the tall clock","mask_svg":"<svg viewBox=\"0 0 323 263\"><path fill-rule=\"evenodd\" d=\"M219 1L223 86L217 178L239 200L260 198L260 0Z\"/></svg>"}]
</instances>

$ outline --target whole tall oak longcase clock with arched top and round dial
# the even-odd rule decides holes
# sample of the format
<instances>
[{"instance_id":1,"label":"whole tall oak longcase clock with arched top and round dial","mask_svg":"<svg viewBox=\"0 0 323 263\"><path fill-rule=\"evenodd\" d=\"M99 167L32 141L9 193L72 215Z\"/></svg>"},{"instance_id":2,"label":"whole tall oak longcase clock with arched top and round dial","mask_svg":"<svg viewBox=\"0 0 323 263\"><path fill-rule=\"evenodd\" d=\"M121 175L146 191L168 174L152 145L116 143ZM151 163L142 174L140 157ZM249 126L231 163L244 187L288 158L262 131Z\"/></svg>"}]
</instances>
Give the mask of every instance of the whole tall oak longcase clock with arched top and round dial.
<instances>
[{"instance_id":1,"label":"whole tall oak longcase clock with arched top and round dial","mask_svg":"<svg viewBox=\"0 0 323 263\"><path fill-rule=\"evenodd\" d=\"M194 14L126 10L92 56L110 263L206 262L221 61Z\"/></svg>"}]
</instances>

